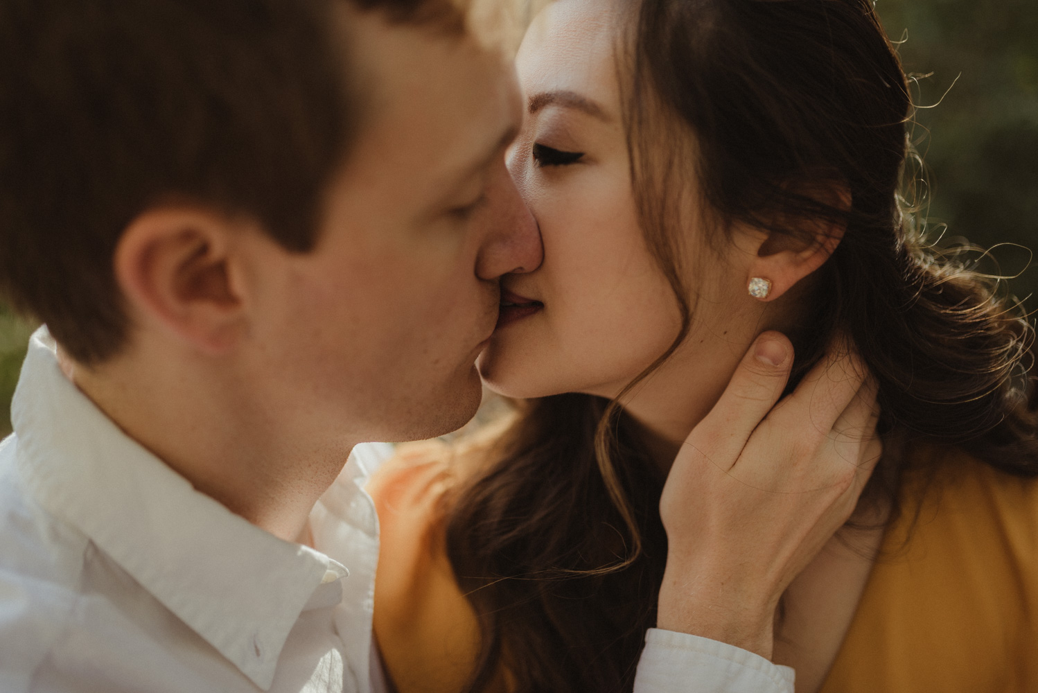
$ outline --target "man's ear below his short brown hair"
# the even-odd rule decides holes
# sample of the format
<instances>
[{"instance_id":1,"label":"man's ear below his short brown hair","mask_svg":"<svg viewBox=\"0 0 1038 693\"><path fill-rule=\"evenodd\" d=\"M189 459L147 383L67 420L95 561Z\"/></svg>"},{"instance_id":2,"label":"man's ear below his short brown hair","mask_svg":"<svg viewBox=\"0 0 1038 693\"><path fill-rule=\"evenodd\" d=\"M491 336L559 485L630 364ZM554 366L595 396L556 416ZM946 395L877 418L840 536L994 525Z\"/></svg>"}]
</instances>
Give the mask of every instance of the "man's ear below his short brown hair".
<instances>
[{"instance_id":1,"label":"man's ear below his short brown hair","mask_svg":"<svg viewBox=\"0 0 1038 693\"><path fill-rule=\"evenodd\" d=\"M225 353L244 332L246 299L236 240L241 221L200 207L155 207L115 248L115 279L131 315L198 351Z\"/></svg>"}]
</instances>

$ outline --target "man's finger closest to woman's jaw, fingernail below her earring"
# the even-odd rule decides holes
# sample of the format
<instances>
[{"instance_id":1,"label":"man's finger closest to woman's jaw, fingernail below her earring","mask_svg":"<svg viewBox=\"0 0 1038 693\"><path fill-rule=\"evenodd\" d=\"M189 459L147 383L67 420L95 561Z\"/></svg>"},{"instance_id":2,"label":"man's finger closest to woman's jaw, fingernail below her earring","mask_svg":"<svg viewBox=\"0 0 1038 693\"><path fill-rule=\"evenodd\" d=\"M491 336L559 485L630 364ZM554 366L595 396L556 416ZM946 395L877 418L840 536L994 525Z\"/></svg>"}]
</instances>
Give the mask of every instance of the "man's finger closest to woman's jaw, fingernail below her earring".
<instances>
[{"instance_id":1,"label":"man's finger closest to woman's jaw, fingernail below her earring","mask_svg":"<svg viewBox=\"0 0 1038 693\"><path fill-rule=\"evenodd\" d=\"M793 363L793 345L778 332L764 332L750 345L720 399L688 437L710 459L730 469L746 440L782 395Z\"/></svg>"}]
</instances>

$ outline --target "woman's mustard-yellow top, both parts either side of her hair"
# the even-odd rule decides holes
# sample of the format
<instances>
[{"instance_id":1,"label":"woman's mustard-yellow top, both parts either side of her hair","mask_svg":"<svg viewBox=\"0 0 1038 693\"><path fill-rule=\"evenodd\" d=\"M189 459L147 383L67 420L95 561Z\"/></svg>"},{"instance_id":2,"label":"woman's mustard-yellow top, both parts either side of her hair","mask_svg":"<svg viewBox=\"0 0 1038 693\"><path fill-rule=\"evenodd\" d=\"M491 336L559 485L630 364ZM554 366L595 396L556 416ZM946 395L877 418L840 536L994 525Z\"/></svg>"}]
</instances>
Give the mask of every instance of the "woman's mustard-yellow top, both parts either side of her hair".
<instances>
[{"instance_id":1,"label":"woman's mustard-yellow top, both parts either side of her hair","mask_svg":"<svg viewBox=\"0 0 1038 693\"><path fill-rule=\"evenodd\" d=\"M931 482L905 484L822 693L1038 693L1038 481L943 454ZM459 691L479 655L444 552L445 459L412 449L368 484L375 636L400 693ZM488 689L508 690L504 671Z\"/></svg>"}]
</instances>

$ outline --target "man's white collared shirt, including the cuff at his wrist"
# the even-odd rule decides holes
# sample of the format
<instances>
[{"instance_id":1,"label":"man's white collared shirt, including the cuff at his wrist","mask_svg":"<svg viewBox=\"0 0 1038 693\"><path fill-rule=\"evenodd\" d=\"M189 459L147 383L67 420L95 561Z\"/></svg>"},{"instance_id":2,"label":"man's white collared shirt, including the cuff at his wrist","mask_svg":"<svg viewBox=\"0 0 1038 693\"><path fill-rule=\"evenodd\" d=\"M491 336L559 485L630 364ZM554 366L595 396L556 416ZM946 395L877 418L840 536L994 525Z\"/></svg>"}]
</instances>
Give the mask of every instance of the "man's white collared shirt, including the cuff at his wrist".
<instances>
[{"instance_id":1,"label":"man's white collared shirt, including the cuff at his wrist","mask_svg":"<svg viewBox=\"0 0 1038 693\"><path fill-rule=\"evenodd\" d=\"M33 335L0 443L0 691L385 690L378 519L358 446L310 515L317 551L231 514L127 437ZM792 670L651 630L636 693L792 693Z\"/></svg>"}]
</instances>

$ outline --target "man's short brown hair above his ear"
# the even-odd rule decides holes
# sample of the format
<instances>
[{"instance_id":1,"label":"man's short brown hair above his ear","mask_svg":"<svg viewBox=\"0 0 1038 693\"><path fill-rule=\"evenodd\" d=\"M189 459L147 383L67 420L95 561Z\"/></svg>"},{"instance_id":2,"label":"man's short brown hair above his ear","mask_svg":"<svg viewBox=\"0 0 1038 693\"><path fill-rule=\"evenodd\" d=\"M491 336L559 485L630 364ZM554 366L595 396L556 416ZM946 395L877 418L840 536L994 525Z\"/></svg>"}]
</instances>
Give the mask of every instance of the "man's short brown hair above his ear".
<instances>
[{"instance_id":1,"label":"man's short brown hair above his ear","mask_svg":"<svg viewBox=\"0 0 1038 693\"><path fill-rule=\"evenodd\" d=\"M126 341L112 258L147 207L248 215L310 250L353 110L337 1L0 0L3 300L95 363Z\"/></svg>"}]
</instances>

